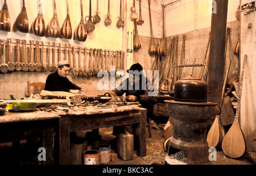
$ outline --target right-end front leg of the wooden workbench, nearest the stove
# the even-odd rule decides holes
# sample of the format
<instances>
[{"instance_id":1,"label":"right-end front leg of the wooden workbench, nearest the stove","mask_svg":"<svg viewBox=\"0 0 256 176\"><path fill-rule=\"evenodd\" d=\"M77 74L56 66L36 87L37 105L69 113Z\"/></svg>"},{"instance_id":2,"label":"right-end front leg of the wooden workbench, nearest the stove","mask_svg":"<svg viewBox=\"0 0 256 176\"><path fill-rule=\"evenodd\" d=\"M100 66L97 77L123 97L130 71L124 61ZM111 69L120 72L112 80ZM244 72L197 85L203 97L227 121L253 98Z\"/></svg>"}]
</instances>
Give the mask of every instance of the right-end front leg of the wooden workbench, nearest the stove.
<instances>
[{"instance_id":1,"label":"right-end front leg of the wooden workbench, nearest the stove","mask_svg":"<svg viewBox=\"0 0 256 176\"><path fill-rule=\"evenodd\" d=\"M137 148L137 156L146 156L146 120L147 110L141 110L141 122L135 125L135 147Z\"/></svg>"}]
</instances>

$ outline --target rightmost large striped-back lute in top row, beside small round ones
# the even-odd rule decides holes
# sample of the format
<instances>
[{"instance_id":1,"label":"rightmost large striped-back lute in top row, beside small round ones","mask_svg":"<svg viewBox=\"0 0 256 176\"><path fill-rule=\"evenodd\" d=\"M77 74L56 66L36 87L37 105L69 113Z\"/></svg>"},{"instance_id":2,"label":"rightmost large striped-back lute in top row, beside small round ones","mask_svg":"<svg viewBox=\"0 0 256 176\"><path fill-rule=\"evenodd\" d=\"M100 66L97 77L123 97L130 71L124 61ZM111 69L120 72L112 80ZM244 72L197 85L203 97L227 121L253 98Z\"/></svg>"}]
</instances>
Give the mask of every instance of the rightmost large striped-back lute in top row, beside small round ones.
<instances>
[{"instance_id":1,"label":"rightmost large striped-back lute in top row, beside small round ones","mask_svg":"<svg viewBox=\"0 0 256 176\"><path fill-rule=\"evenodd\" d=\"M74 32L74 38L78 41L85 41L87 38L87 31L84 24L84 13L82 11L82 0L80 0L80 6L81 6L81 20L79 25L77 25L75 32Z\"/></svg>"}]
</instances>

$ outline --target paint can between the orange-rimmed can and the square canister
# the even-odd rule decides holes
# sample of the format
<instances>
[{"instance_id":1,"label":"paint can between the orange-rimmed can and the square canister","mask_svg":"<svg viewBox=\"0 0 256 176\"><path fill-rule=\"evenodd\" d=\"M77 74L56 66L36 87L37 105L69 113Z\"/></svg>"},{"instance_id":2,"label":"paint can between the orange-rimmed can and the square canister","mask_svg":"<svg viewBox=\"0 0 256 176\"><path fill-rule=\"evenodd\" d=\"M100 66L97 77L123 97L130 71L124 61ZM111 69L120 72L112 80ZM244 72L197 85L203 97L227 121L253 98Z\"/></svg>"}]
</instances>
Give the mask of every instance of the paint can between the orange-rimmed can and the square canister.
<instances>
[{"instance_id":1,"label":"paint can between the orange-rimmed can and the square canister","mask_svg":"<svg viewBox=\"0 0 256 176\"><path fill-rule=\"evenodd\" d=\"M100 151L100 164L109 164L111 161L111 145L99 144L97 149Z\"/></svg>"}]
</instances>

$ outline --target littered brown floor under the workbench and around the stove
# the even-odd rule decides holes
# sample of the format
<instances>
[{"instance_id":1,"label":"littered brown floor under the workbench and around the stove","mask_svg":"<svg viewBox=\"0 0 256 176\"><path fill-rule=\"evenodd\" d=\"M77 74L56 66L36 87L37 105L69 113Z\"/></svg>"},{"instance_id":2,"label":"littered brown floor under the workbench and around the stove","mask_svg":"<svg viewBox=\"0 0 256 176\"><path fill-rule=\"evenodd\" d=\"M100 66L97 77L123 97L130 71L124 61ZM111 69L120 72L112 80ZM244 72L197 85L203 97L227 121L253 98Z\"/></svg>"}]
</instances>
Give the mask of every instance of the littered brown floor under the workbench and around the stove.
<instances>
[{"instance_id":1,"label":"littered brown floor under the workbench and around the stove","mask_svg":"<svg viewBox=\"0 0 256 176\"><path fill-rule=\"evenodd\" d=\"M100 128L100 135L102 135L102 140L100 143L108 143L111 145L111 141L115 139L112 135L112 127L110 128ZM165 157L168 155L167 151L163 148L164 138L162 129L156 130L152 128L152 138L149 138L148 130L146 131L146 144L147 144L147 156L138 157L136 152L134 152L133 160L123 161L121 158L115 158L109 165L150 165L150 164L166 164ZM112 152L117 153L117 147L112 144ZM185 164L177 160L173 160L171 164L180 165ZM210 161L209 165L255 165L253 161L249 160L247 157L241 158L230 158L225 155L223 151L217 151L216 161Z\"/></svg>"}]
</instances>

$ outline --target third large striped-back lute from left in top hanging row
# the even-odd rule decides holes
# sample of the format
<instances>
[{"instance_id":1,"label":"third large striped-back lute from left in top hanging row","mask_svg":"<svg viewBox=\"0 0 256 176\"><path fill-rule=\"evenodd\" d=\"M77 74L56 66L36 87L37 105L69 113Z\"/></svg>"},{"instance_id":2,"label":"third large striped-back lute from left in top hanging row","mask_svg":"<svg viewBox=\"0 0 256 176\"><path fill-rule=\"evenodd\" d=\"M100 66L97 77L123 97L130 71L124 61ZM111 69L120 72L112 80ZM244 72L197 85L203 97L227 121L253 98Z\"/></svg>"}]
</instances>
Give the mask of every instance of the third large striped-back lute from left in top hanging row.
<instances>
[{"instance_id":1,"label":"third large striped-back lute from left in top hanging row","mask_svg":"<svg viewBox=\"0 0 256 176\"><path fill-rule=\"evenodd\" d=\"M34 35L43 37L46 35L46 24L44 23L43 12L42 12L42 2L39 2L38 16L31 25L32 32Z\"/></svg>"}]
</instances>

